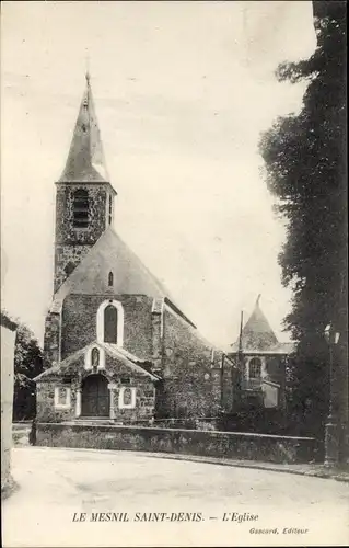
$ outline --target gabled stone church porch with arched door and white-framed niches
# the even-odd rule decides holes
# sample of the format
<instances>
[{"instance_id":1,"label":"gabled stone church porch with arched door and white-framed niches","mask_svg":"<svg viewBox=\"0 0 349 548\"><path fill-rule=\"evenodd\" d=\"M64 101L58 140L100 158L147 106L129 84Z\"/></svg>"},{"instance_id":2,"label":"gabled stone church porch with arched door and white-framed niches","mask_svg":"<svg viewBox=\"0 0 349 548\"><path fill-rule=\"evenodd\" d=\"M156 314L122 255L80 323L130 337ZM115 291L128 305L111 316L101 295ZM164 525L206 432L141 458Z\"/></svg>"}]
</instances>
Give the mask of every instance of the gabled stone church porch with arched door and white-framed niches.
<instances>
[{"instance_id":1,"label":"gabled stone church porch with arched door and white-framed niches","mask_svg":"<svg viewBox=\"0 0 349 548\"><path fill-rule=\"evenodd\" d=\"M38 421L127 424L153 418L159 377L110 346L92 343L36 378Z\"/></svg>"}]
</instances>

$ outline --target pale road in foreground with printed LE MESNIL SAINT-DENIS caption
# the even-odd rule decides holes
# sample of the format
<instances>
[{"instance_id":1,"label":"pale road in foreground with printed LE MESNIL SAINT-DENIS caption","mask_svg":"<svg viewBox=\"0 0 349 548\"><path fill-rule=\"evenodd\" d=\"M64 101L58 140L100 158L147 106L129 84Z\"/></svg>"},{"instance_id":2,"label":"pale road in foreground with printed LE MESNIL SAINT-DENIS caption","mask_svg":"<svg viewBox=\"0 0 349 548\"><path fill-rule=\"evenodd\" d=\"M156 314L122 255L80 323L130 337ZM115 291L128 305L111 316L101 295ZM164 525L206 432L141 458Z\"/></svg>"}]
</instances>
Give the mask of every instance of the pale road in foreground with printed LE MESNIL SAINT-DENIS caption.
<instances>
[{"instance_id":1,"label":"pale road in foreground with printed LE MESNIL SAINT-DENIS caption","mask_svg":"<svg viewBox=\"0 0 349 548\"><path fill-rule=\"evenodd\" d=\"M160 458L19 447L3 546L346 546L348 483Z\"/></svg>"}]
</instances>

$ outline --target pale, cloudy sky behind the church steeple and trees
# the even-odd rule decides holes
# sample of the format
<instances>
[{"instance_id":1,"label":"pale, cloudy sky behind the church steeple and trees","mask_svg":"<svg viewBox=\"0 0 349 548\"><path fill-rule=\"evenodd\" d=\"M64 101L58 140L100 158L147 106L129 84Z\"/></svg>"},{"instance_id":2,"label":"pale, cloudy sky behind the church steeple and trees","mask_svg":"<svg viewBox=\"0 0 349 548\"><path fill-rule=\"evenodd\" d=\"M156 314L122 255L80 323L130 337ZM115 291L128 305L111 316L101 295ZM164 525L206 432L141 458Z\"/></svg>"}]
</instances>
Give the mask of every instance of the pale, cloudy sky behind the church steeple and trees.
<instances>
[{"instance_id":1,"label":"pale, cloudy sky behind the church steeple and trees","mask_svg":"<svg viewBox=\"0 0 349 548\"><path fill-rule=\"evenodd\" d=\"M1 305L43 341L55 181L89 67L115 230L214 344L258 294L280 340L290 309L260 133L305 84L275 69L314 52L310 1L18 2L1 9Z\"/></svg>"}]
</instances>

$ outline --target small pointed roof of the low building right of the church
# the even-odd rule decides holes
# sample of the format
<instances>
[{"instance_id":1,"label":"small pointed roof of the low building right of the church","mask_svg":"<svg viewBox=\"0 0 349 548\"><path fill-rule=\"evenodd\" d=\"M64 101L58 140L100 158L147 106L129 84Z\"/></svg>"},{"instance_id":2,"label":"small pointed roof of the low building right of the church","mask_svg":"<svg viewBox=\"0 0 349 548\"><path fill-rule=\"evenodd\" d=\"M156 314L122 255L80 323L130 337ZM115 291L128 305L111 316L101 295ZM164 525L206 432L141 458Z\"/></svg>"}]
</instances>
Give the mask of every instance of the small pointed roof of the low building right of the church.
<instances>
[{"instance_id":1,"label":"small pointed roof of the low building right of the church","mask_svg":"<svg viewBox=\"0 0 349 548\"><path fill-rule=\"evenodd\" d=\"M242 331L243 352L264 352L277 350L279 347L278 339L259 307L259 299L260 295L258 295L255 308ZM232 347L233 351L239 350L239 338Z\"/></svg>"}]
</instances>

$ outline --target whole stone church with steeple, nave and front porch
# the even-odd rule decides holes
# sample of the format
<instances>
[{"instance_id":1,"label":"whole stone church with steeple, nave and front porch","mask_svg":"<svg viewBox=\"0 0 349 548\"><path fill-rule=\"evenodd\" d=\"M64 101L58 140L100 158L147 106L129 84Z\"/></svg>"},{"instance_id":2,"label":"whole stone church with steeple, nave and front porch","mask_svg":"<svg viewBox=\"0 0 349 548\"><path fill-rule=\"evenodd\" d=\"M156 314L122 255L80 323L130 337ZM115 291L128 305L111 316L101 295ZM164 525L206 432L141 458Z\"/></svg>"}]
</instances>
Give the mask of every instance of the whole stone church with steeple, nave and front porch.
<instances>
[{"instance_id":1,"label":"whole stone church with steeple, nave and front porch","mask_svg":"<svg viewBox=\"0 0 349 548\"><path fill-rule=\"evenodd\" d=\"M86 75L56 182L54 296L45 372L36 377L37 421L147 425L231 411L234 361L199 334L115 231L116 199Z\"/></svg>"}]
</instances>

